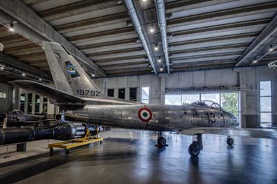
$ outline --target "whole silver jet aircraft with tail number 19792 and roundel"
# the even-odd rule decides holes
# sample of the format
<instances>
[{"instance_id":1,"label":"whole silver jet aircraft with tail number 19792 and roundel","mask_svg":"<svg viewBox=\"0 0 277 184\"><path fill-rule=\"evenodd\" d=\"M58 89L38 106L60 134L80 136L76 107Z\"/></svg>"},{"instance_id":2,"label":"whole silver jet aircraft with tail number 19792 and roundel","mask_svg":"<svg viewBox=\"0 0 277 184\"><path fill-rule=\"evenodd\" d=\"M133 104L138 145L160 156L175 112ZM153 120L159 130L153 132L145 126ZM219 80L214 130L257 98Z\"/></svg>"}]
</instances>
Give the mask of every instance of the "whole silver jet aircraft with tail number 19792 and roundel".
<instances>
[{"instance_id":1,"label":"whole silver jet aircraft with tail number 19792 and roundel","mask_svg":"<svg viewBox=\"0 0 277 184\"><path fill-rule=\"evenodd\" d=\"M43 46L55 88L30 80L15 80L11 83L43 95L64 110L73 110L71 118L75 120L96 125L159 131L159 147L166 146L163 131L197 136L188 147L191 156L197 156L203 149L202 134L226 135L226 142L230 146L233 145L231 136L277 139L277 131L273 129L236 128L238 119L211 101L175 106L108 98L63 46L51 42L43 42Z\"/></svg>"}]
</instances>

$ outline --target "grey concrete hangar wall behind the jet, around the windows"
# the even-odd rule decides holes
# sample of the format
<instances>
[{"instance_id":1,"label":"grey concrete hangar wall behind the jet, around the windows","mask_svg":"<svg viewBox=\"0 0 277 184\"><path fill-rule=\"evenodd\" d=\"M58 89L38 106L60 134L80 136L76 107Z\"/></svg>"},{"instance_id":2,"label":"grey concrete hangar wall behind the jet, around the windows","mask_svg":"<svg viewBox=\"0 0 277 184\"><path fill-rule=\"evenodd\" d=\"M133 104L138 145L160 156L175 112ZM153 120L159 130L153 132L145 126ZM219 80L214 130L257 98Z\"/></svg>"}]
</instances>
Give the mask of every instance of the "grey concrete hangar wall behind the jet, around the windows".
<instances>
[{"instance_id":1,"label":"grey concrete hangar wall behind the jet, around the windows","mask_svg":"<svg viewBox=\"0 0 277 184\"><path fill-rule=\"evenodd\" d=\"M220 90L224 86L230 90L238 89L241 94L242 127L260 127L260 81L271 81L272 122L277 120L277 73L267 66L190 71L172 73L157 77L154 75L138 75L125 77L98 78L96 84L107 95L107 89L115 89L114 97L118 97L118 89L125 88L125 99L129 99L129 88L137 87L138 100L141 100L141 87L150 86L150 103L164 104L165 93L186 90Z\"/></svg>"}]
</instances>

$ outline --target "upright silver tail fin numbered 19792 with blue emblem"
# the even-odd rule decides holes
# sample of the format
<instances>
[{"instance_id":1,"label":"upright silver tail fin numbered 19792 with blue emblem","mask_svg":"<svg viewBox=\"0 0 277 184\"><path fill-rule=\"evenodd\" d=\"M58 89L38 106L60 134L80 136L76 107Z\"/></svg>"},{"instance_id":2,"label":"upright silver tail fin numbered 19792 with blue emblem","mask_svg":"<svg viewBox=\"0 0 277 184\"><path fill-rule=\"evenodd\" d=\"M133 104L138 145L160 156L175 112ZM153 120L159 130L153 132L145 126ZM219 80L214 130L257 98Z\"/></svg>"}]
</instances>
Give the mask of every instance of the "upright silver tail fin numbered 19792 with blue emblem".
<instances>
[{"instance_id":1,"label":"upright silver tail fin numbered 19792 with blue emblem","mask_svg":"<svg viewBox=\"0 0 277 184\"><path fill-rule=\"evenodd\" d=\"M43 44L56 89L82 98L106 98L63 46L53 42Z\"/></svg>"}]
</instances>

